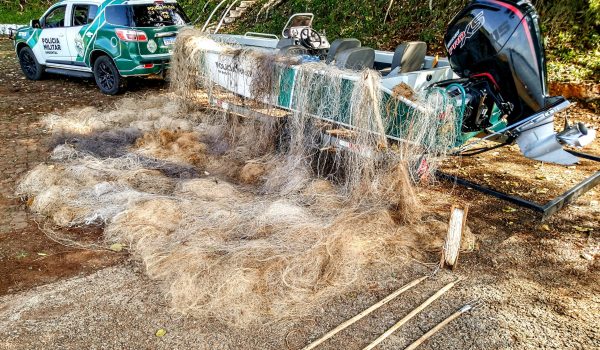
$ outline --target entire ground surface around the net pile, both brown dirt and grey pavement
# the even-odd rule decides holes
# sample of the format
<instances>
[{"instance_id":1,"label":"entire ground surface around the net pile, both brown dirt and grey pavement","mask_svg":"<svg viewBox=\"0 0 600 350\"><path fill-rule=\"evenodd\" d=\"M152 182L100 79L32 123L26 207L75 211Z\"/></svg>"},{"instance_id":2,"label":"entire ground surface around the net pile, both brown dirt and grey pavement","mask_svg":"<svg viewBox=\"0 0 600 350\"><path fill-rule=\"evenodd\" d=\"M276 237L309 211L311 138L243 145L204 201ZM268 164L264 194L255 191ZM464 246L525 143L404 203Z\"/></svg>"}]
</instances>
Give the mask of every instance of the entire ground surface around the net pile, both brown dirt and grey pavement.
<instances>
[{"instance_id":1,"label":"entire ground surface around the net pile, both brown dirt and grey pavement","mask_svg":"<svg viewBox=\"0 0 600 350\"><path fill-rule=\"evenodd\" d=\"M39 118L79 106L109 109L123 96L164 89L161 81L141 81L125 95L108 97L92 81L52 76L30 82L22 76L10 43L0 39L0 349L300 349L432 271L415 262L364 293L340 297L313 318L239 330L217 319L172 313L160 285L145 277L126 252L75 249L48 238L38 228L43 222L36 222L13 196L19 177L47 157L48 137ZM600 117L585 104L568 113L573 121L600 128ZM600 140L589 151L600 154ZM524 159L511 146L449 159L444 170L543 203L600 171L600 165L541 164ZM422 348L600 348L600 187L543 223L532 211L449 183L440 182L421 195L425 201L435 197L447 203L448 211L454 202L469 205L467 222L476 236L473 251L461 254L454 272L440 271L322 349L364 347L457 276L464 280L379 348L407 346L473 299L484 303ZM431 215L447 217L443 210ZM93 243L102 228L71 233ZM432 252L428 262L436 259ZM156 336L159 329L166 334Z\"/></svg>"}]
</instances>

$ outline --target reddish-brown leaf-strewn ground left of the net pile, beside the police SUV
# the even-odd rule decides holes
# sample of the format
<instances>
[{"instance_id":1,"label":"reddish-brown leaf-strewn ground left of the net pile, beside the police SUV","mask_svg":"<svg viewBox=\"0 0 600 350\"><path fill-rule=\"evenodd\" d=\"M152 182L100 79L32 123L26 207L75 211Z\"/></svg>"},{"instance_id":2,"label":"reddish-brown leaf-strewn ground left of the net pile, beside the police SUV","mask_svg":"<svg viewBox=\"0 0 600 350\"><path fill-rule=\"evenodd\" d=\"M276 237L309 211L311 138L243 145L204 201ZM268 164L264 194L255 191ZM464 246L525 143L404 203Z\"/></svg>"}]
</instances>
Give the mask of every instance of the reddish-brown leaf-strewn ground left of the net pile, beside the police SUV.
<instances>
[{"instance_id":1,"label":"reddish-brown leaf-strewn ground left of the net pile, beside the police SUV","mask_svg":"<svg viewBox=\"0 0 600 350\"><path fill-rule=\"evenodd\" d=\"M144 95L165 88L162 81L131 84L123 96ZM38 224L14 198L16 181L47 157L38 120L68 108L110 108L115 99L103 95L92 80L50 76L32 83L22 75L11 42L0 37L0 294L14 293L61 278L88 274L113 265L123 256L66 248L41 234ZM102 230L81 230L97 240Z\"/></svg>"}]
</instances>

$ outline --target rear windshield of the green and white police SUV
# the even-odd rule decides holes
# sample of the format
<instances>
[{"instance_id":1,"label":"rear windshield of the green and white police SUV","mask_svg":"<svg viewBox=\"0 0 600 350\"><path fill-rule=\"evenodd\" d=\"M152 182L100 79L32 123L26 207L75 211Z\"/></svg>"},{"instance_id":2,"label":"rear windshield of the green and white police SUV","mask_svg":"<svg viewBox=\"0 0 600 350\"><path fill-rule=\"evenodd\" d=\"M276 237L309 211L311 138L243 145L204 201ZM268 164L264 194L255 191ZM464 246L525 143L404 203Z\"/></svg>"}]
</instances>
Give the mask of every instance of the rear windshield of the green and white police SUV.
<instances>
[{"instance_id":1,"label":"rear windshield of the green and white police SUV","mask_svg":"<svg viewBox=\"0 0 600 350\"><path fill-rule=\"evenodd\" d=\"M135 27L186 25L190 22L177 3L131 5Z\"/></svg>"}]
</instances>

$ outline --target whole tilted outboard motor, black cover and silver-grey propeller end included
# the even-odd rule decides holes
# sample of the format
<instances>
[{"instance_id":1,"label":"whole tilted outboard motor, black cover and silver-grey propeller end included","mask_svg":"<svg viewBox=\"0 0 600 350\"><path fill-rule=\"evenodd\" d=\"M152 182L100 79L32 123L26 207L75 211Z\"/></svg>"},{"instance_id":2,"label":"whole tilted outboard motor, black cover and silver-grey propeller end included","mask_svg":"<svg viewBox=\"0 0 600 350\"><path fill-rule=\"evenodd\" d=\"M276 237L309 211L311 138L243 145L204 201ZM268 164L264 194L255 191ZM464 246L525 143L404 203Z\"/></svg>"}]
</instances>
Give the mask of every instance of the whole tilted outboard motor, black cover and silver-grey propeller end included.
<instances>
[{"instance_id":1,"label":"whole tilted outboard motor, black cover and silver-grey propeller end included","mask_svg":"<svg viewBox=\"0 0 600 350\"><path fill-rule=\"evenodd\" d=\"M554 114L569 102L548 96L539 18L529 1L473 0L450 22L444 44L452 70L461 77L453 82L465 90L463 131L491 126L495 105L508 134L529 158L572 164L578 159L562 144L593 140L595 131L582 125L554 132Z\"/></svg>"}]
</instances>

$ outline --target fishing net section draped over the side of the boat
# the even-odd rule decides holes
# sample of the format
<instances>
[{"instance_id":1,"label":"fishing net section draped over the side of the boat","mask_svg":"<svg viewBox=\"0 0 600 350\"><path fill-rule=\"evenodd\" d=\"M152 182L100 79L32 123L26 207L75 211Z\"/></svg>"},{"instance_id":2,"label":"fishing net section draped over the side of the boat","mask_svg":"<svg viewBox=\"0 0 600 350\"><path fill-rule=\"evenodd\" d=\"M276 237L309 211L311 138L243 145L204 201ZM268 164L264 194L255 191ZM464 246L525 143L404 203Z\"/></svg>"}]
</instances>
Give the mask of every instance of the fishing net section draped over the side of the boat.
<instances>
[{"instance_id":1,"label":"fishing net section draped over the side of the boat","mask_svg":"<svg viewBox=\"0 0 600 350\"><path fill-rule=\"evenodd\" d=\"M228 113L219 108L214 123L231 123L230 115L236 111L228 108L230 104L277 117L283 108L285 120L263 123L255 140L273 142L273 132L287 136L289 166L314 158L317 151L329 153L333 168L346 170L345 188L350 191L362 182L378 183L374 178L378 170L389 173L387 165L394 168L400 162L412 180L431 175L454 146L457 109L444 90L415 92L399 84L384 91L375 70L300 63L300 57L241 49L185 30L172 61L172 89L184 103L202 98L224 107ZM338 135L351 146L340 147ZM339 152L341 148L351 152ZM317 175L330 175L325 168L330 167L317 169Z\"/></svg>"}]
</instances>

